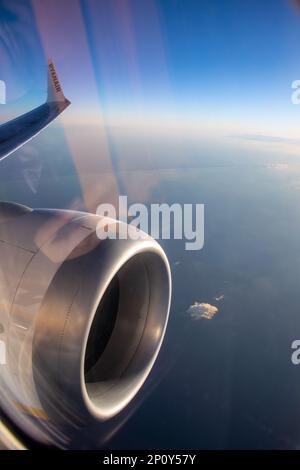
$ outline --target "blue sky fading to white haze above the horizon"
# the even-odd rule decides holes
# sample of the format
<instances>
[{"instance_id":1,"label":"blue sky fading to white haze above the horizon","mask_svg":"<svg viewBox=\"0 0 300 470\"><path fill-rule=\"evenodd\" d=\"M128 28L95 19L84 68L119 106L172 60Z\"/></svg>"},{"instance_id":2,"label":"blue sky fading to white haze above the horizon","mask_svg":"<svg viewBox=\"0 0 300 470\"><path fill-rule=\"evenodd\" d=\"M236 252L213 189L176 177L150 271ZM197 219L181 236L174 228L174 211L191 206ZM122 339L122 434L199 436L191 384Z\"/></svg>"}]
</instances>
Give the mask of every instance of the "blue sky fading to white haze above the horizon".
<instances>
[{"instance_id":1,"label":"blue sky fading to white haze above the horizon","mask_svg":"<svg viewBox=\"0 0 300 470\"><path fill-rule=\"evenodd\" d=\"M12 106L44 96L52 56L74 118L293 135L300 14L289 0L0 0ZM1 108L3 109L3 108ZM230 124L230 125L229 125Z\"/></svg>"}]
</instances>

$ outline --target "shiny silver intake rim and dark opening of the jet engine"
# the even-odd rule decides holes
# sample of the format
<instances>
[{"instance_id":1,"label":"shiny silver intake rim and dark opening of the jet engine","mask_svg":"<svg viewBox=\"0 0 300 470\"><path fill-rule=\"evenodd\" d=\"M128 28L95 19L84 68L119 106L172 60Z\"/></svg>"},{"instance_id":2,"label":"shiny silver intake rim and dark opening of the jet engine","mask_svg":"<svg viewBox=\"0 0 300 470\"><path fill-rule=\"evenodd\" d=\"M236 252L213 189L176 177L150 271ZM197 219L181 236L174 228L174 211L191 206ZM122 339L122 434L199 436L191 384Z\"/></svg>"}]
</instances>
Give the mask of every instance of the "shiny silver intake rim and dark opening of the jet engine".
<instances>
[{"instance_id":1,"label":"shiny silver intake rim and dark opening of the jet engine","mask_svg":"<svg viewBox=\"0 0 300 470\"><path fill-rule=\"evenodd\" d=\"M113 297L113 284L118 286L119 298L112 312L111 331L99 341L99 357L95 348L96 356L87 365L93 348L90 341L95 341L94 328L101 325L101 316L110 315L107 303L111 300L107 296ZM101 420L115 416L141 388L163 341L170 299L169 264L154 240L127 247L118 262L110 266L105 285L95 299L81 355L82 395L92 416Z\"/></svg>"}]
</instances>

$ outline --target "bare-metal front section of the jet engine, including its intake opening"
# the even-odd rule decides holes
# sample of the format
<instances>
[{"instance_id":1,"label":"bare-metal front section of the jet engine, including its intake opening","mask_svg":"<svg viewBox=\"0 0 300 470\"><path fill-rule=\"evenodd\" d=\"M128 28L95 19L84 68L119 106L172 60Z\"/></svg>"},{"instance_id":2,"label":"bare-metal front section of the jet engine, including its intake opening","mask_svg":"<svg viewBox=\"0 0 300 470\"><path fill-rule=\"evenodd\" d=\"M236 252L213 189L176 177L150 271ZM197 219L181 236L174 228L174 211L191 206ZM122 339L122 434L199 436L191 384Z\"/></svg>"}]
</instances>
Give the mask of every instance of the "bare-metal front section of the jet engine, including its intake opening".
<instances>
[{"instance_id":1,"label":"bare-metal front section of the jet engine, including its intake opening","mask_svg":"<svg viewBox=\"0 0 300 470\"><path fill-rule=\"evenodd\" d=\"M59 426L104 421L125 408L156 360L168 321L171 274L163 249L146 234L100 240L98 221L81 218L76 237L77 225L68 223L59 261L47 256L49 250L39 251L32 271L39 282L46 277L28 340L34 390L39 406ZM62 237L55 235L55 250L57 238ZM39 288L37 283L36 292ZM98 335L100 345L91 349Z\"/></svg>"}]
</instances>

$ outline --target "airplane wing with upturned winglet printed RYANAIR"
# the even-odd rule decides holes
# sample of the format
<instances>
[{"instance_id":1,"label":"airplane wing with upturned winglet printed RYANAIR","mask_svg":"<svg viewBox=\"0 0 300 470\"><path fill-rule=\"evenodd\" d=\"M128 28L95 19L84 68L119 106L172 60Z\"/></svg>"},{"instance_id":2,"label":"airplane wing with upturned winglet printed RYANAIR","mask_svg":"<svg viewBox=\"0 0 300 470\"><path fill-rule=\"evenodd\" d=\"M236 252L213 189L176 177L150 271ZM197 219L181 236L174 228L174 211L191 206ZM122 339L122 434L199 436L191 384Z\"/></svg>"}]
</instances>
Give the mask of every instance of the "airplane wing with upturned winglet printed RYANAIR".
<instances>
[{"instance_id":1,"label":"airplane wing with upturned winglet printed RYANAIR","mask_svg":"<svg viewBox=\"0 0 300 470\"><path fill-rule=\"evenodd\" d=\"M70 104L63 94L54 64L49 60L47 101L38 108L0 125L0 161L39 134Z\"/></svg>"}]
</instances>

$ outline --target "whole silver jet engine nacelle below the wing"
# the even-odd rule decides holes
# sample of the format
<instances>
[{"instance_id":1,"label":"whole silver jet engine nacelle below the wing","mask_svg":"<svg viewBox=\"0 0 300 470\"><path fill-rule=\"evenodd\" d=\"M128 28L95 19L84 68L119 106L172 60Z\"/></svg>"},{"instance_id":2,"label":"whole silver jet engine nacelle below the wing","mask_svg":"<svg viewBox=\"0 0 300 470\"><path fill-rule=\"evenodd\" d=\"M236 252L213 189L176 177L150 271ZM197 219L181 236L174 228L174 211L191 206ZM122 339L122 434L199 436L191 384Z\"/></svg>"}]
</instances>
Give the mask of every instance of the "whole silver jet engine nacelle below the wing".
<instances>
[{"instance_id":1,"label":"whole silver jet engine nacelle below the wing","mask_svg":"<svg viewBox=\"0 0 300 470\"><path fill-rule=\"evenodd\" d=\"M1 407L31 438L58 447L66 427L107 422L129 404L168 319L163 250L149 236L99 240L100 220L0 204Z\"/></svg>"}]
</instances>

